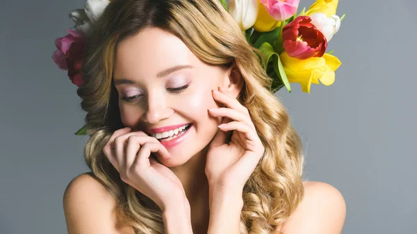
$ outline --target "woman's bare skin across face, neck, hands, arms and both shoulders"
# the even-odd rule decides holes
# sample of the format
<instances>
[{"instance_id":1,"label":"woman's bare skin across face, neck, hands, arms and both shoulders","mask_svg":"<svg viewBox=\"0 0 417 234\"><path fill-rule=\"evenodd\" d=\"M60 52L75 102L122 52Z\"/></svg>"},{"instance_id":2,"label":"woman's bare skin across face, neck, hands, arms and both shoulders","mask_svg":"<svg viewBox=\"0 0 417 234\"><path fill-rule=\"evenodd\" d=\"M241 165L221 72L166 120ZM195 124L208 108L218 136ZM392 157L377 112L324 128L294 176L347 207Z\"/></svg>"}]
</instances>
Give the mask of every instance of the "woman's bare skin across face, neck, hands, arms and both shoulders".
<instances>
[{"instance_id":1,"label":"woman's bare skin across face, neck, hands, arms and both shoulders","mask_svg":"<svg viewBox=\"0 0 417 234\"><path fill-rule=\"evenodd\" d=\"M177 65L188 68L156 77ZM239 233L241 191L264 149L247 110L236 101L243 85L236 67L207 65L177 37L147 28L120 44L114 78L131 81L116 85L126 128L104 148L122 180L161 207L165 233ZM186 88L174 94L179 87ZM183 123L192 125L175 147L165 148L147 134L149 128ZM228 131L233 131L231 144L224 144ZM277 231L341 233L345 201L340 192L319 182L304 187L300 206ZM114 206L95 178L74 178L64 194L68 232L134 233L115 218Z\"/></svg>"}]
</instances>

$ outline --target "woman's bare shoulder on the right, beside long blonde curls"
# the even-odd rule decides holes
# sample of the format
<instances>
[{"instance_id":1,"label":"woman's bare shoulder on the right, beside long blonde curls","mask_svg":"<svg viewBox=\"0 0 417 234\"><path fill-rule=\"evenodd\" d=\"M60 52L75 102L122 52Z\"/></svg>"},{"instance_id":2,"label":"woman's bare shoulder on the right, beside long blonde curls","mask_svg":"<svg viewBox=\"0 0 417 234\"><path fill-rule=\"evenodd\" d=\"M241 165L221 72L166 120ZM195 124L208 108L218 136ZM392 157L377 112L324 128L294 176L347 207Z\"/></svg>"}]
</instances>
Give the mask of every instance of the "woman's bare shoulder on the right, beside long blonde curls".
<instances>
[{"instance_id":1,"label":"woman's bare shoulder on the right, beside long blonde curls","mask_svg":"<svg viewBox=\"0 0 417 234\"><path fill-rule=\"evenodd\" d=\"M305 181L304 197L281 226L286 234L340 234L346 217L341 192L328 183Z\"/></svg>"}]
</instances>

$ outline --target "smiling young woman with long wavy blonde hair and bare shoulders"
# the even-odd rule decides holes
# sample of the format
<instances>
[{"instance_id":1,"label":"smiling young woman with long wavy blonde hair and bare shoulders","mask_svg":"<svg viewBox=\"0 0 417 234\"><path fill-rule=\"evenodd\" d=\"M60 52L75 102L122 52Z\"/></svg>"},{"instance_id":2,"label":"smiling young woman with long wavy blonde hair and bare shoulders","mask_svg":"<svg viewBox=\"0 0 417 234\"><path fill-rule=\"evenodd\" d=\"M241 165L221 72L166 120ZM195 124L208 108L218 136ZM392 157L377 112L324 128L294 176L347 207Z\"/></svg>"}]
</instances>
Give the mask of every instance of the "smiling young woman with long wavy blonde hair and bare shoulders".
<instances>
[{"instance_id":1,"label":"smiling young woman with long wavy blonde hair and bare shoulders","mask_svg":"<svg viewBox=\"0 0 417 234\"><path fill-rule=\"evenodd\" d=\"M256 53L218 0L111 1L85 51L91 172L65 190L68 233L341 233L345 201L303 181Z\"/></svg>"}]
</instances>

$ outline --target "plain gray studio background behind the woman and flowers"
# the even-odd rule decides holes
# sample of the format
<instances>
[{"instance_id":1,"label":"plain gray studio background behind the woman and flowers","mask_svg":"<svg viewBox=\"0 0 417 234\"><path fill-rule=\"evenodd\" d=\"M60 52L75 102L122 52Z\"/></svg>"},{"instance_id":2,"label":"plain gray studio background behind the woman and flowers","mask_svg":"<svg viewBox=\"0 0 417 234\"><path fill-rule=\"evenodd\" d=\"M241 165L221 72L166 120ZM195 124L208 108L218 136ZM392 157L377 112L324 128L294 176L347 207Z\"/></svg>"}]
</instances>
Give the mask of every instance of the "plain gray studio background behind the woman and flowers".
<instances>
[{"instance_id":1,"label":"plain gray studio background behind the woman and flowers","mask_svg":"<svg viewBox=\"0 0 417 234\"><path fill-rule=\"evenodd\" d=\"M66 233L62 197L87 172L76 86L51 60L83 0L0 5L0 233ZM309 6L313 0L302 0ZM344 234L417 233L416 1L342 0L330 87L278 92L306 150L306 174L340 190Z\"/></svg>"}]
</instances>

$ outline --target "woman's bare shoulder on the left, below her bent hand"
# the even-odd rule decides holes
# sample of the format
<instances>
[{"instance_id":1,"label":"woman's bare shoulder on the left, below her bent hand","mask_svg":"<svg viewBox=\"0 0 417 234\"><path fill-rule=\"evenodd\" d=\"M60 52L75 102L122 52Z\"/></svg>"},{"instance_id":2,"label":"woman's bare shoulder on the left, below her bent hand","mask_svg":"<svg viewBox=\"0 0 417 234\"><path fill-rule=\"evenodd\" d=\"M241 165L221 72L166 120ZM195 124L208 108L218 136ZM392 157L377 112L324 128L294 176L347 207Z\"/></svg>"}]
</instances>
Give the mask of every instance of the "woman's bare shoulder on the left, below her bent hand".
<instances>
[{"instance_id":1,"label":"woman's bare shoulder on the left, below her bent hand","mask_svg":"<svg viewBox=\"0 0 417 234\"><path fill-rule=\"evenodd\" d=\"M116 201L90 173L81 174L67 185L63 207L69 234L134 234L131 226L117 222Z\"/></svg>"}]
</instances>

